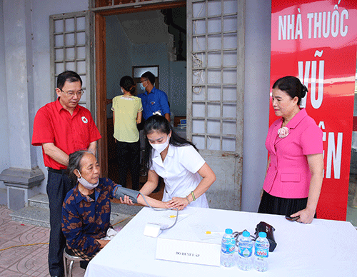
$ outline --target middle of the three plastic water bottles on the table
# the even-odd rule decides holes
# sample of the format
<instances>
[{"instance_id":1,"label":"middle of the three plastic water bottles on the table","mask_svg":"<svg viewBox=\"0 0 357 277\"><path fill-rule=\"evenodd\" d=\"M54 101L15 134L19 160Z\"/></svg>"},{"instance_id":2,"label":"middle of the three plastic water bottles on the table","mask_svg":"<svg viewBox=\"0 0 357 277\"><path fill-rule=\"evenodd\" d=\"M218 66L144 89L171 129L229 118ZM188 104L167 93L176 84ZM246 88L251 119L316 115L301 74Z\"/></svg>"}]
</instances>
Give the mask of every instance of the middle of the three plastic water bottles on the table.
<instances>
[{"instance_id":1,"label":"middle of the three plastic water bottles on the table","mask_svg":"<svg viewBox=\"0 0 357 277\"><path fill-rule=\"evenodd\" d=\"M251 234L248 231L243 231L243 236L239 237L238 241L238 268L243 271L248 271L253 265L253 241Z\"/></svg>"}]
</instances>

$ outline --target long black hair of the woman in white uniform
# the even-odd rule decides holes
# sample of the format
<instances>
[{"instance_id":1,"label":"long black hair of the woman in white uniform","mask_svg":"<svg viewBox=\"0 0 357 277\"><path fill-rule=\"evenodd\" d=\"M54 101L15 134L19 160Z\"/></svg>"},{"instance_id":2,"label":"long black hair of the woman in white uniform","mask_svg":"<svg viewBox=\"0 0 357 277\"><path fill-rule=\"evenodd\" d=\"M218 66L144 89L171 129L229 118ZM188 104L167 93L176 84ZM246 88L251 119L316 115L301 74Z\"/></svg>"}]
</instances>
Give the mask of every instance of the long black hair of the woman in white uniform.
<instances>
[{"instance_id":1,"label":"long black hair of the woman in white uniform","mask_svg":"<svg viewBox=\"0 0 357 277\"><path fill-rule=\"evenodd\" d=\"M151 167L151 153L153 149L149 143L147 135L153 133L154 131L157 131L159 133L164 133L166 135L169 135L171 131L170 144L178 147L191 145L193 146L193 148L196 149L196 151L198 151L196 146L193 143L191 143L191 141L187 141L186 139L183 139L181 136L178 136L178 134L176 134L171 124L169 123L169 121L167 121L167 119L165 119L164 116L159 116L159 115L150 116L149 119L147 119L144 124L144 136L145 136L144 167L146 171L148 171L149 168Z\"/></svg>"}]
</instances>

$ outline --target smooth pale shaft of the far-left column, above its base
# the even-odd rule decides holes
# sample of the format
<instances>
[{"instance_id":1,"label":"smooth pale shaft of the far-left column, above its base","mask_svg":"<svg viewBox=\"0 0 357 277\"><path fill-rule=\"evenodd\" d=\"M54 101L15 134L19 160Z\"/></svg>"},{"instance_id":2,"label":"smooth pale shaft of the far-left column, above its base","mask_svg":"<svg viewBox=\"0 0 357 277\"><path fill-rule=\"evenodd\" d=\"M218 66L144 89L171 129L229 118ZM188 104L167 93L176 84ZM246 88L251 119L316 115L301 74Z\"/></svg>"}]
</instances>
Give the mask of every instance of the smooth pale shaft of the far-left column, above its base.
<instances>
[{"instance_id":1,"label":"smooth pale shaft of the far-left column, above its base","mask_svg":"<svg viewBox=\"0 0 357 277\"><path fill-rule=\"evenodd\" d=\"M6 99L10 166L31 168L29 96L32 84L31 16L28 2L4 1Z\"/></svg>"}]
</instances>

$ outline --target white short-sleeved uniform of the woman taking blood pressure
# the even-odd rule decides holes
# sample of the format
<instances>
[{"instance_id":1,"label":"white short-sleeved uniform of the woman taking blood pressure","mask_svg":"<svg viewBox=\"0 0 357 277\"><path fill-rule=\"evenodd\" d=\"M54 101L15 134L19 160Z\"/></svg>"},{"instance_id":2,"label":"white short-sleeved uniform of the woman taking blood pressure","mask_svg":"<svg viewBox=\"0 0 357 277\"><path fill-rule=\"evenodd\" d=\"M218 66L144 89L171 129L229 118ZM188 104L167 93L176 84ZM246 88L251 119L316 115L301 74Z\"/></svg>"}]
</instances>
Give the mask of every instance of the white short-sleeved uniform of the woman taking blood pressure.
<instances>
[{"instance_id":1,"label":"white short-sleeved uniform of the woman taking blood pressure","mask_svg":"<svg viewBox=\"0 0 357 277\"><path fill-rule=\"evenodd\" d=\"M173 197L186 197L201 181L198 170L205 161L191 145L173 146L169 149L164 162L159 151L153 149L151 170L164 178L165 189L162 201L169 201ZM188 206L208 208L205 193L192 201Z\"/></svg>"}]
</instances>

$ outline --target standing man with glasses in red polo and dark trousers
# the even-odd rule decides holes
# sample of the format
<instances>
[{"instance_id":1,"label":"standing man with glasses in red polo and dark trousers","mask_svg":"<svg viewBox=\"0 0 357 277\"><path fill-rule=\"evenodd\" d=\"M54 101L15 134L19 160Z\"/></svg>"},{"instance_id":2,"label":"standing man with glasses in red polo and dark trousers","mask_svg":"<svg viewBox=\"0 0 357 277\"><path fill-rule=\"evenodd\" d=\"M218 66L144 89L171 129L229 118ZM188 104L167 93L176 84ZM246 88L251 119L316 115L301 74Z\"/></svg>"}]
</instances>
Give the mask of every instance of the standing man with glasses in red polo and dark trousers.
<instances>
[{"instance_id":1,"label":"standing man with glasses in red polo and dark trousers","mask_svg":"<svg viewBox=\"0 0 357 277\"><path fill-rule=\"evenodd\" d=\"M96 154L96 141L101 139L91 112L79 106L84 94L82 80L74 71L57 77L57 100L46 104L34 119L32 145L42 146L44 165L49 169L47 195L50 209L49 273L63 276L63 251L66 238L61 231L62 205L74 184L68 176L69 154L88 149Z\"/></svg>"}]
</instances>

